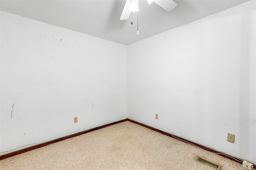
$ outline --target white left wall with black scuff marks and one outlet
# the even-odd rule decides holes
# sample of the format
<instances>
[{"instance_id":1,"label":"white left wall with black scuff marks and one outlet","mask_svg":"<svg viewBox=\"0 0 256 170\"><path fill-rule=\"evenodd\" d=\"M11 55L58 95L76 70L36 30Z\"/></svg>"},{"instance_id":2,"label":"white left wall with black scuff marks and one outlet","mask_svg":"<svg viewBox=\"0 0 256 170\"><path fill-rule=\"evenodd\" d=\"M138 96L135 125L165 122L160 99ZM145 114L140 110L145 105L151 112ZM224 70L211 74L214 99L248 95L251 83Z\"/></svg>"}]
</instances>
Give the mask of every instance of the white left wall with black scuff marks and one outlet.
<instances>
[{"instance_id":1,"label":"white left wall with black scuff marks and one outlet","mask_svg":"<svg viewBox=\"0 0 256 170\"><path fill-rule=\"evenodd\" d=\"M1 11L1 154L126 118L126 45Z\"/></svg>"}]
</instances>

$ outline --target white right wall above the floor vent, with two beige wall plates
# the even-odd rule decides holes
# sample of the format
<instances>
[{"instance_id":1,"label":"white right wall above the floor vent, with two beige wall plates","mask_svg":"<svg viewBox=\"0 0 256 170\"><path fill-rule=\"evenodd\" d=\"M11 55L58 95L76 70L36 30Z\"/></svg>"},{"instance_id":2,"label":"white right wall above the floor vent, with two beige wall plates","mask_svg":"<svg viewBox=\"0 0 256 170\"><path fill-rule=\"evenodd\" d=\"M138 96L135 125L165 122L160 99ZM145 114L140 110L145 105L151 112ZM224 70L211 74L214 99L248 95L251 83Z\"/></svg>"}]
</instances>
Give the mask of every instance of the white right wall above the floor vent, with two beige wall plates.
<instances>
[{"instance_id":1,"label":"white right wall above the floor vent, with two beige wall plates","mask_svg":"<svg viewBox=\"0 0 256 170\"><path fill-rule=\"evenodd\" d=\"M255 15L249 1L128 45L128 117L256 162Z\"/></svg>"}]
</instances>

